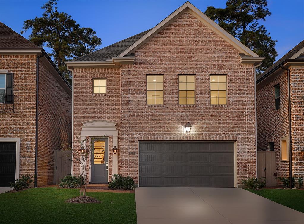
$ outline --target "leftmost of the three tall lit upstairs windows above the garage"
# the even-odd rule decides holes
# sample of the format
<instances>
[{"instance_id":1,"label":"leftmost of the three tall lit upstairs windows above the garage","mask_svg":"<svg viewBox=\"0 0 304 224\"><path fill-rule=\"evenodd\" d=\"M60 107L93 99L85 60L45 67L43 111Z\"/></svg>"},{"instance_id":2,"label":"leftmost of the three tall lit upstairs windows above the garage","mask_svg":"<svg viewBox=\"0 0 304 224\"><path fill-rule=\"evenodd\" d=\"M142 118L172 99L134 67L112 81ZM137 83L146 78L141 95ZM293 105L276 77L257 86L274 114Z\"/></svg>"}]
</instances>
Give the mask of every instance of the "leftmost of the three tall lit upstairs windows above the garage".
<instances>
[{"instance_id":1,"label":"leftmost of the three tall lit upstairs windows above the garage","mask_svg":"<svg viewBox=\"0 0 304 224\"><path fill-rule=\"evenodd\" d=\"M164 76L147 75L147 105L164 104Z\"/></svg>"}]
</instances>

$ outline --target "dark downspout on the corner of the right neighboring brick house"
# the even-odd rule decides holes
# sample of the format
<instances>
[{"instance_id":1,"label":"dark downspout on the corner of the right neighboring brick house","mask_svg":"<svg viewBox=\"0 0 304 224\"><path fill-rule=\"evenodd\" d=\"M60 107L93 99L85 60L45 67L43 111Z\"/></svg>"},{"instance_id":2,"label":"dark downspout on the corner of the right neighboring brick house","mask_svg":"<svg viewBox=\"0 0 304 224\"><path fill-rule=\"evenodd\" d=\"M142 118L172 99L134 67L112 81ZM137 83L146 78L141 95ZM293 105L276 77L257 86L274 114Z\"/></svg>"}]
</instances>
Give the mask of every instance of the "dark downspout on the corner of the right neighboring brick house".
<instances>
[{"instance_id":1,"label":"dark downspout on the corner of the right neighboring brick house","mask_svg":"<svg viewBox=\"0 0 304 224\"><path fill-rule=\"evenodd\" d=\"M291 97L290 97L290 70L285 68L283 64L281 68L287 70L287 85L288 85L288 141L289 141L289 188L292 189L292 144L291 144Z\"/></svg>"}]
</instances>

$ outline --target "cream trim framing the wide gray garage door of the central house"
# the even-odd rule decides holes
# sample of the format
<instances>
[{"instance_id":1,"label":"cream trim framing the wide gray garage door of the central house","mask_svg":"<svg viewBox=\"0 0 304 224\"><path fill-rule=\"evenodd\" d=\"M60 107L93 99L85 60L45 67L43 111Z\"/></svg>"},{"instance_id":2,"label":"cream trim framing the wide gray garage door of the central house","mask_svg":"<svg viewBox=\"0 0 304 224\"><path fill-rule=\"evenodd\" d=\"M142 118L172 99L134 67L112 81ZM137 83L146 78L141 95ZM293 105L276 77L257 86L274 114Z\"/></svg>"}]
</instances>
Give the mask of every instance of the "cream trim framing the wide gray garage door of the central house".
<instances>
[{"instance_id":1,"label":"cream trim framing the wide gray garage door of the central house","mask_svg":"<svg viewBox=\"0 0 304 224\"><path fill-rule=\"evenodd\" d=\"M153 140L139 140L138 144L137 144L137 150L138 150L138 154L137 154L137 173L138 173L138 187L140 187L140 182L139 182L139 144L140 142L234 142L234 187L237 187L237 141L207 141L207 140L176 140L176 141L172 141L172 140L161 140L161 141L153 141Z\"/></svg>"}]
</instances>

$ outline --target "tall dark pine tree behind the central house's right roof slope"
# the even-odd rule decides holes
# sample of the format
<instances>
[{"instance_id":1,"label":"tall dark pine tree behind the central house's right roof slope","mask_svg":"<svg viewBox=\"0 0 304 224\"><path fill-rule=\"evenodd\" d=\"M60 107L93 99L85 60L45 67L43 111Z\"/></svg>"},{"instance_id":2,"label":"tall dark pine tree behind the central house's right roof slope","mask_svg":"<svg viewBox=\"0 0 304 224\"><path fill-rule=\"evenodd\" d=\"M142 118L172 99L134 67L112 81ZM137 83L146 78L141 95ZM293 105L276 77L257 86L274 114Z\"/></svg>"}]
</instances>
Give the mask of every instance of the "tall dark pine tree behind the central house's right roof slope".
<instances>
[{"instance_id":1,"label":"tall dark pine tree behind the central house's right roof slope","mask_svg":"<svg viewBox=\"0 0 304 224\"><path fill-rule=\"evenodd\" d=\"M257 75L274 63L278 56L276 40L271 39L264 25L259 25L271 15L267 0L228 0L226 8L208 6L205 14L259 56L266 57Z\"/></svg>"}]
</instances>

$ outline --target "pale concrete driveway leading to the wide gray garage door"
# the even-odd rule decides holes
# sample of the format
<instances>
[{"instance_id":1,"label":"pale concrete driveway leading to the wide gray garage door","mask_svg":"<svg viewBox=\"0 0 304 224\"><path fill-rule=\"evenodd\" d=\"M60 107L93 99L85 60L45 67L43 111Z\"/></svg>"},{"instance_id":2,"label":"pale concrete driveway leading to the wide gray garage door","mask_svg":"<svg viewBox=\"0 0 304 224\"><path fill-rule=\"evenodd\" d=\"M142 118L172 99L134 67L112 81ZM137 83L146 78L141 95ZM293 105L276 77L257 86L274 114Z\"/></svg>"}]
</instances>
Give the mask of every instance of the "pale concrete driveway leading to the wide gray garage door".
<instances>
[{"instance_id":1,"label":"pale concrete driveway leading to the wide gray garage door","mask_svg":"<svg viewBox=\"0 0 304 224\"><path fill-rule=\"evenodd\" d=\"M140 187L138 224L304 224L304 213L241 188Z\"/></svg>"}]
</instances>

